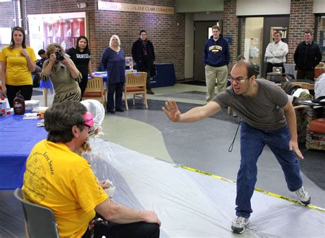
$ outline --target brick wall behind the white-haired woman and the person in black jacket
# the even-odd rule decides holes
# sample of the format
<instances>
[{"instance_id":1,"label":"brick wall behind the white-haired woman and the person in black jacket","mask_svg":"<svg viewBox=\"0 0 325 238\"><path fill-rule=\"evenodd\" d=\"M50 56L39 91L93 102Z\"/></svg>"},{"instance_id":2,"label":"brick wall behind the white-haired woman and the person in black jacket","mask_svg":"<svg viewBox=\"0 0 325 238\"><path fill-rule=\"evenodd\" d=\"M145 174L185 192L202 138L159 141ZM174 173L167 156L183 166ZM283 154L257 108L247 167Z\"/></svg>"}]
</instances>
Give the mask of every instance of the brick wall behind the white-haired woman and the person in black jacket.
<instances>
[{"instance_id":1,"label":"brick wall behind the white-haired woman and the person in black jacket","mask_svg":"<svg viewBox=\"0 0 325 238\"><path fill-rule=\"evenodd\" d=\"M121 1L120 1L121 2ZM132 1L124 1L132 3ZM134 3L153 5L153 1L134 1ZM155 1L154 5L174 6L174 1ZM108 46L110 36L117 34L121 39L126 56L131 56L132 43L139 38L141 29L154 44L156 62L174 64L176 78L184 79L184 34L185 14L147 14L138 12L110 12L95 10L95 21L89 21L89 28L95 29L97 43L95 60ZM92 45L93 49L93 45Z\"/></svg>"}]
</instances>

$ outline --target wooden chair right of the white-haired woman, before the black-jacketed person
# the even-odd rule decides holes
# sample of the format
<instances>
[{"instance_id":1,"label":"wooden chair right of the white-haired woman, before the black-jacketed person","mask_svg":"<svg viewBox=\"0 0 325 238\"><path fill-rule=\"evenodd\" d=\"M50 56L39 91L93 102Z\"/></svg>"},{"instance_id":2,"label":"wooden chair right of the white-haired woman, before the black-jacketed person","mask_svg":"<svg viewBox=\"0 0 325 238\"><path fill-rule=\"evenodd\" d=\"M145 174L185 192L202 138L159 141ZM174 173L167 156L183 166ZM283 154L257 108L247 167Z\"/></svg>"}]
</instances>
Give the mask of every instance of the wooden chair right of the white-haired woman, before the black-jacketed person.
<instances>
[{"instance_id":1,"label":"wooden chair right of the white-haired woman, before the black-jacketed person","mask_svg":"<svg viewBox=\"0 0 325 238\"><path fill-rule=\"evenodd\" d=\"M128 107L128 94L133 94L133 105L135 105L135 95L143 95L143 104L145 108L148 108L147 104L147 73L145 72L135 72L127 73L125 77L125 86L124 86L124 99L125 99L125 108L129 110Z\"/></svg>"}]
</instances>

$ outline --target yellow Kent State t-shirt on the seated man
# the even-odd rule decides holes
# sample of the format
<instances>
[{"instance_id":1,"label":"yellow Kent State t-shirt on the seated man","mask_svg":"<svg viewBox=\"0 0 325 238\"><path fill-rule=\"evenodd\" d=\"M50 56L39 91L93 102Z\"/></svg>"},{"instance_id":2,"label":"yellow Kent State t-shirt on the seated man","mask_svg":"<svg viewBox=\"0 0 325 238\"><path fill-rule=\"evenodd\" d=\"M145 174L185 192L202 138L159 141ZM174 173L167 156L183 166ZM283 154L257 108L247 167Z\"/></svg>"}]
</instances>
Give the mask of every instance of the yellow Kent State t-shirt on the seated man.
<instances>
[{"instance_id":1,"label":"yellow Kent State t-shirt on the seated man","mask_svg":"<svg viewBox=\"0 0 325 238\"><path fill-rule=\"evenodd\" d=\"M108 198L86 159L47 140L27 158L23 191L29 201L52 209L60 237L82 237L95 206Z\"/></svg>"}]
</instances>

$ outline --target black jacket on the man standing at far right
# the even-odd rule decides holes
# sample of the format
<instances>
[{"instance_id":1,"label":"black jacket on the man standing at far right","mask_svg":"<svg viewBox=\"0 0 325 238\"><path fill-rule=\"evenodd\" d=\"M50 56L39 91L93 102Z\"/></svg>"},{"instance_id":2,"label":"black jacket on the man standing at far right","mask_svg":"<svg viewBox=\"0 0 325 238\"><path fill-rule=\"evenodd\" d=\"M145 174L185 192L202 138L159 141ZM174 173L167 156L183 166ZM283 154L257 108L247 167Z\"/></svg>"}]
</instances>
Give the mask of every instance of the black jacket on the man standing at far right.
<instances>
[{"instance_id":1,"label":"black jacket on the man standing at far right","mask_svg":"<svg viewBox=\"0 0 325 238\"><path fill-rule=\"evenodd\" d=\"M293 55L296 66L301 71L313 71L322 60L320 46L312 41L306 45L304 41L300 43Z\"/></svg>"}]
</instances>

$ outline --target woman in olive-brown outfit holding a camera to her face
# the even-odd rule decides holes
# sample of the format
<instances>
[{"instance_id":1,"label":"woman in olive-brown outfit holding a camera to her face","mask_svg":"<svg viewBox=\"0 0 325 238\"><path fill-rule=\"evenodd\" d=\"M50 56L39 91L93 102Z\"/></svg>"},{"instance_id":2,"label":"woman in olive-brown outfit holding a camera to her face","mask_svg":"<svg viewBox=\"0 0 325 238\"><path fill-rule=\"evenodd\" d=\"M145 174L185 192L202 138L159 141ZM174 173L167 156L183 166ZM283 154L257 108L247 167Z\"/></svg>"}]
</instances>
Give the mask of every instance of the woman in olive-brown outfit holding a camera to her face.
<instances>
[{"instance_id":1,"label":"woman in olive-brown outfit holding a camera to her face","mask_svg":"<svg viewBox=\"0 0 325 238\"><path fill-rule=\"evenodd\" d=\"M81 91L77 82L82 80L82 74L77 70L73 61L66 55L61 45L47 45L47 60L43 64L41 80L51 79L56 94L53 104L65 100L80 101Z\"/></svg>"}]
</instances>

